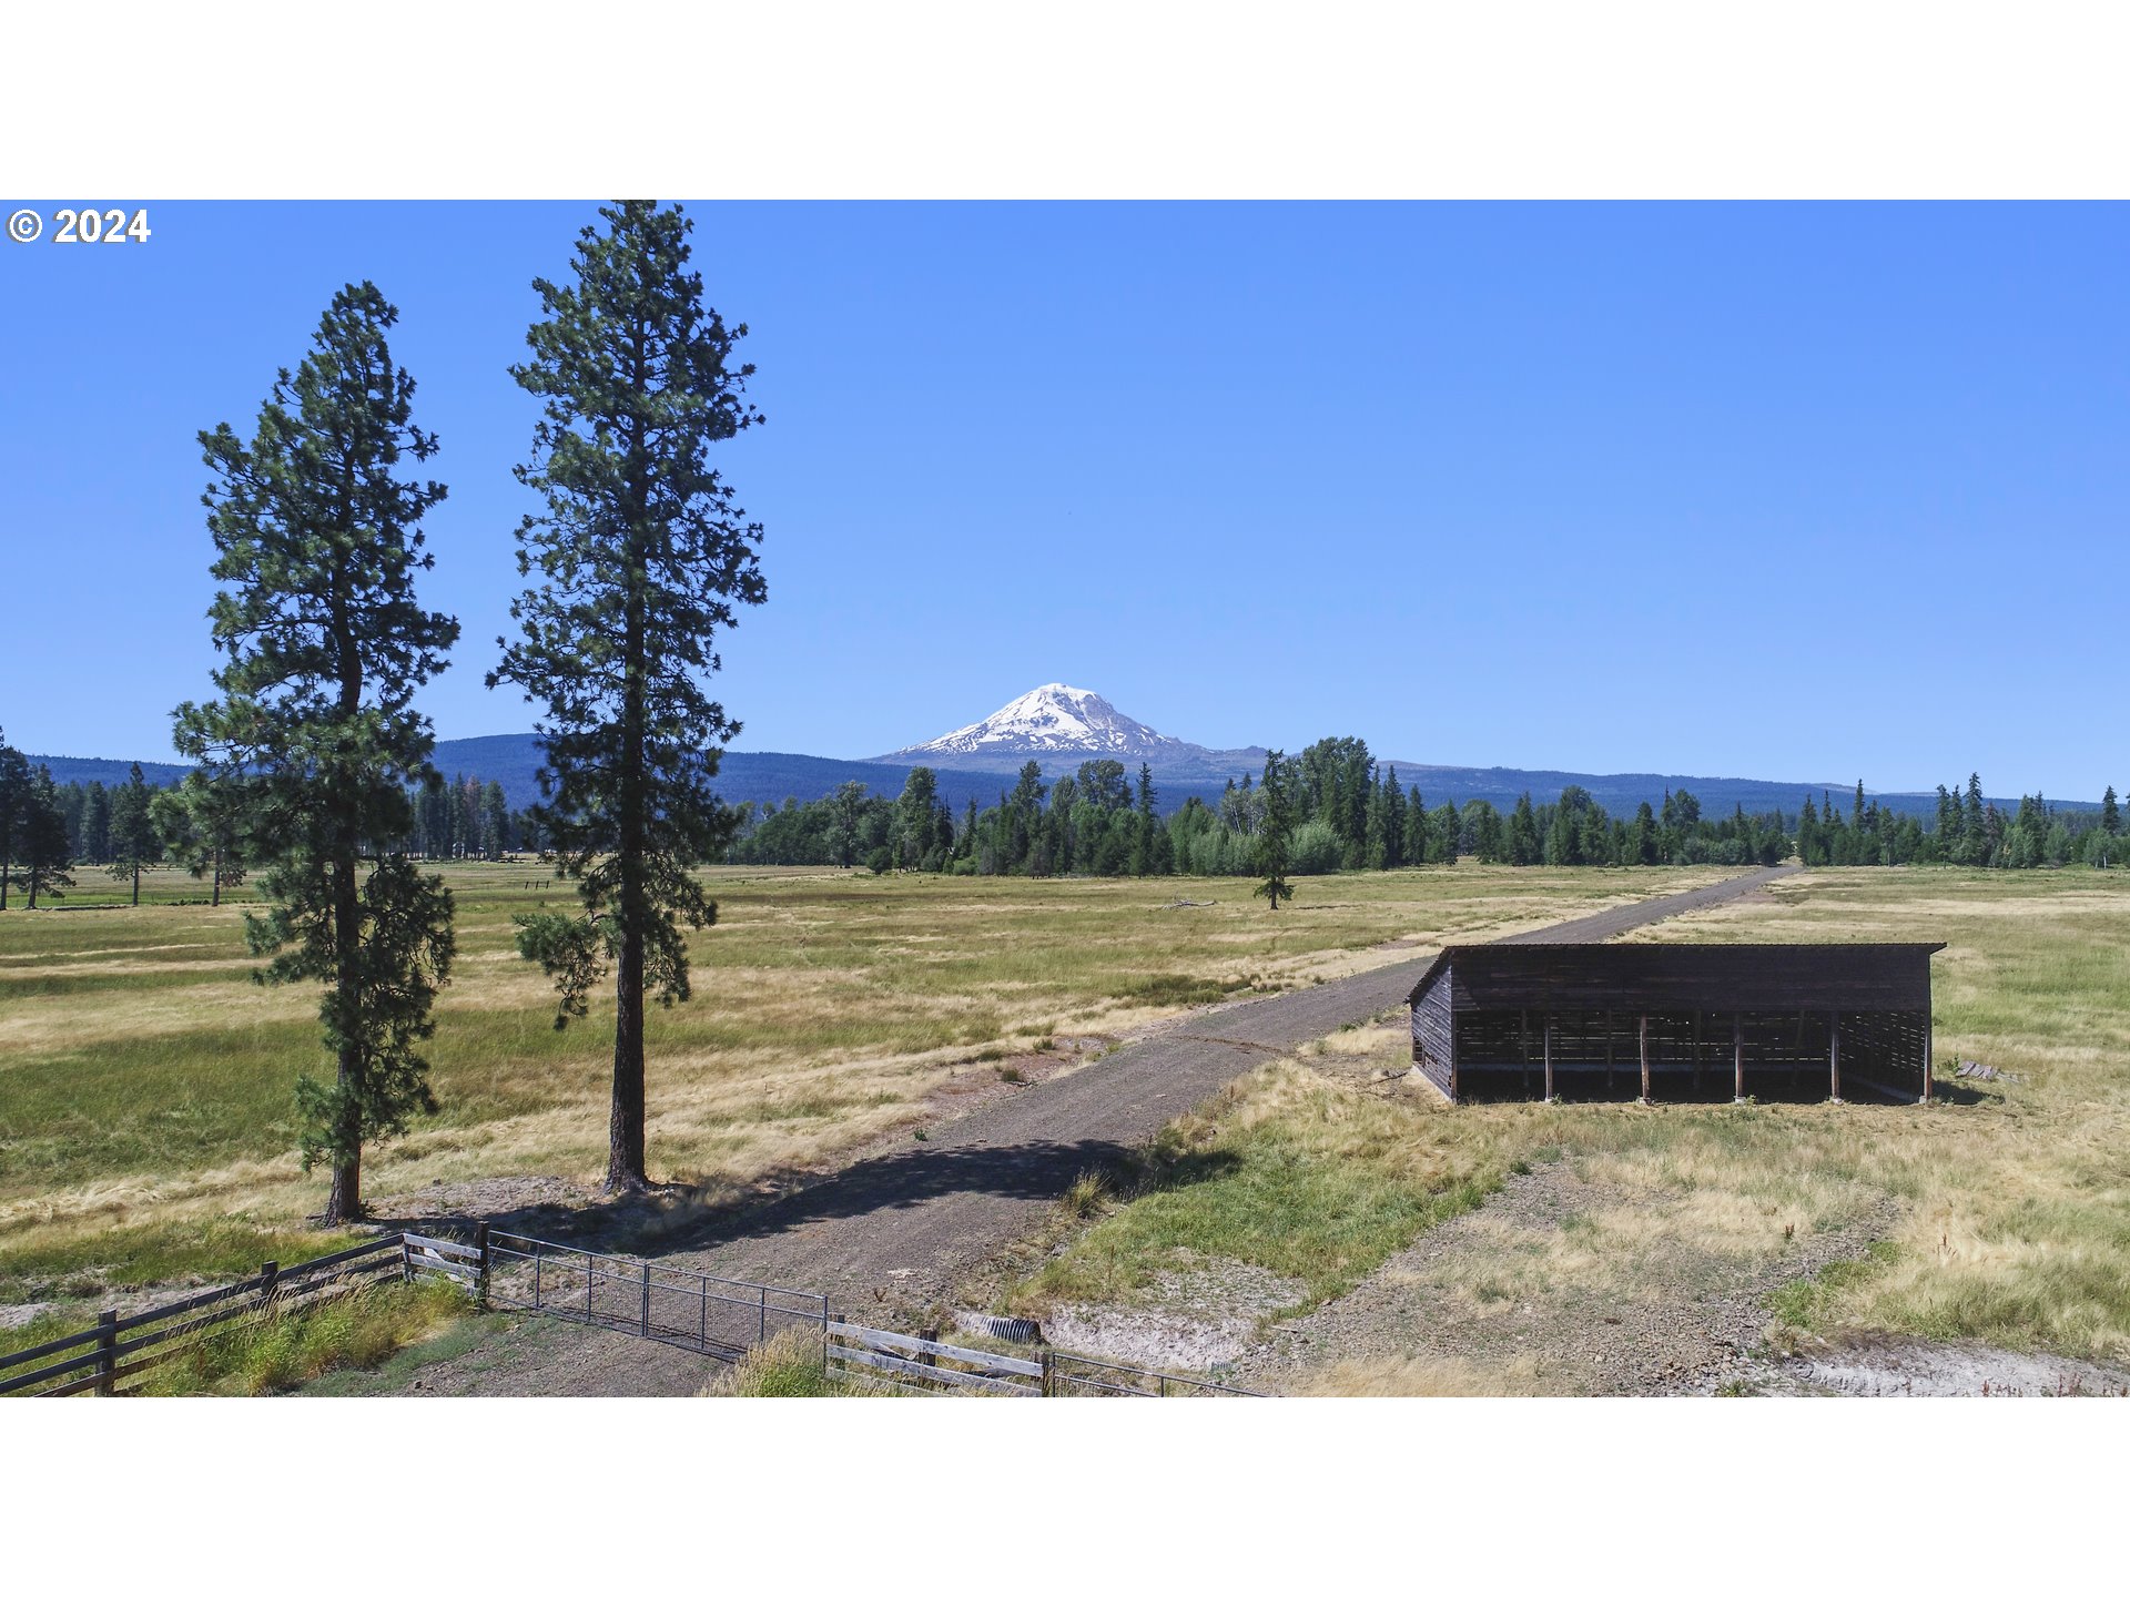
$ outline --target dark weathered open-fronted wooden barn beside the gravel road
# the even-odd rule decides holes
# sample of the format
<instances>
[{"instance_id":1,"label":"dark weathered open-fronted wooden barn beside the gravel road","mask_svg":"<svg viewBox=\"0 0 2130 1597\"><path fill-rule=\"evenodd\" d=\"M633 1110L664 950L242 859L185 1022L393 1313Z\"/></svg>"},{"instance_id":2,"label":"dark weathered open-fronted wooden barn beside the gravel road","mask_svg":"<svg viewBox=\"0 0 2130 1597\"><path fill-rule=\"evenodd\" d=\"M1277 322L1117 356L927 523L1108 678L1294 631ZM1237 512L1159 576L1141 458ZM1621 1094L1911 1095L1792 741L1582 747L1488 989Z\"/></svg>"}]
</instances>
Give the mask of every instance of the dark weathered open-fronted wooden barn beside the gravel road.
<instances>
[{"instance_id":1,"label":"dark weathered open-fronted wooden barn beside the gravel road","mask_svg":"<svg viewBox=\"0 0 2130 1597\"><path fill-rule=\"evenodd\" d=\"M1940 948L1444 948L1412 988L1412 1063L1451 1101L1928 1101Z\"/></svg>"}]
</instances>

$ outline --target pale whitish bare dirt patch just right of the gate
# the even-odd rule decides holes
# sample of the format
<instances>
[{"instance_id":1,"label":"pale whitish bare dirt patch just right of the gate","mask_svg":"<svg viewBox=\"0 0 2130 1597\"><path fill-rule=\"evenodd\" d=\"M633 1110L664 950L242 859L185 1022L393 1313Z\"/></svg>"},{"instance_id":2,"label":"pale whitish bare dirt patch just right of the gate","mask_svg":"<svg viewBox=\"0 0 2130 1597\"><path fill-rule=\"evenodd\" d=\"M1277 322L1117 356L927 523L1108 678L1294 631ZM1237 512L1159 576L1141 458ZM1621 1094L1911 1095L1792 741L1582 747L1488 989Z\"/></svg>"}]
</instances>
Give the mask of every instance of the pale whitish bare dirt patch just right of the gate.
<instances>
[{"instance_id":1,"label":"pale whitish bare dirt patch just right of the gate","mask_svg":"<svg viewBox=\"0 0 2130 1597\"><path fill-rule=\"evenodd\" d=\"M1233 1258L1157 1275L1133 1303L1061 1303L1044 1339L1065 1352L1152 1369L1231 1365L1259 1320L1304 1297L1301 1284Z\"/></svg>"}]
</instances>

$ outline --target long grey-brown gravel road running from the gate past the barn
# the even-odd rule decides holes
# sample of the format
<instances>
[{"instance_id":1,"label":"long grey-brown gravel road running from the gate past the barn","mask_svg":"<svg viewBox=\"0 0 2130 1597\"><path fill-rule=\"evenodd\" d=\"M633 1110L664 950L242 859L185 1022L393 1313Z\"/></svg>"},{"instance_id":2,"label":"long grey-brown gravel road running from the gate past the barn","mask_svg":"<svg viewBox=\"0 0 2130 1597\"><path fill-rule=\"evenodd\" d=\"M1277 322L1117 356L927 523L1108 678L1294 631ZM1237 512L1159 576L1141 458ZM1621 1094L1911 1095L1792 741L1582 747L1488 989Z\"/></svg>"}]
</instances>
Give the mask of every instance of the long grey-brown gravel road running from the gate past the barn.
<instances>
[{"instance_id":1,"label":"long grey-brown gravel road running from the gate past the barn","mask_svg":"<svg viewBox=\"0 0 2130 1597\"><path fill-rule=\"evenodd\" d=\"M1747 871L1506 941L1602 941L1787 873ZM924 1141L861 1158L816 1186L737 1214L665 1263L829 1293L852 1318L931 1303L969 1267L1042 1224L1082 1171L1118 1158L1263 1058L1404 1003L1427 958L1193 1016L1071 1075L933 1126ZM658 1344L550 1324L430 1367L422 1395L682 1395L711 1369Z\"/></svg>"}]
</instances>

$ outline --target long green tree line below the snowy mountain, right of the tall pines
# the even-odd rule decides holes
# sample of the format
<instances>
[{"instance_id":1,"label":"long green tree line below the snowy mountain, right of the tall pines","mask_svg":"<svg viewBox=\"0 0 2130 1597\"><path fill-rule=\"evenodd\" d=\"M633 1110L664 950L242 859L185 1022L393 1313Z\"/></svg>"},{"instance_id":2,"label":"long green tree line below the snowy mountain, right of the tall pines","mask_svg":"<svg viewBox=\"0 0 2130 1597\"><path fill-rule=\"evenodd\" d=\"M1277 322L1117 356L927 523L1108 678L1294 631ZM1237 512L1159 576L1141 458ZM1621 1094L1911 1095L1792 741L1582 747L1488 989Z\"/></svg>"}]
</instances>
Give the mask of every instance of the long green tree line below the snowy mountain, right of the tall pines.
<instances>
[{"instance_id":1,"label":"long green tree line below the snowy mountain, right of the tall pines","mask_svg":"<svg viewBox=\"0 0 2130 1597\"><path fill-rule=\"evenodd\" d=\"M1272 811L1282 809L1287 820ZM2004 811L1938 788L1930 820L1864 796L1847 816L1828 796L1781 809L1706 816L1687 790L1612 816L1587 788L1557 801L1529 794L1504 813L1487 798L1427 807L1419 786L1378 764L1367 743L1336 737L1267 760L1259 777L1229 779L1218 801L1197 796L1167 816L1152 773L1133 779L1118 760L1086 760L1056 781L1029 760L999 803L961 816L937 798L937 775L918 767L901 796L846 781L812 803L741 805L735 865L865 865L873 871L950 875L1257 875L1267 824L1287 875L1395 871L1408 865L2045 865L2109 867L2124 858L2115 788L2098 811L2058 811L2038 794ZM1284 833L1280 837L1280 833Z\"/></svg>"}]
</instances>

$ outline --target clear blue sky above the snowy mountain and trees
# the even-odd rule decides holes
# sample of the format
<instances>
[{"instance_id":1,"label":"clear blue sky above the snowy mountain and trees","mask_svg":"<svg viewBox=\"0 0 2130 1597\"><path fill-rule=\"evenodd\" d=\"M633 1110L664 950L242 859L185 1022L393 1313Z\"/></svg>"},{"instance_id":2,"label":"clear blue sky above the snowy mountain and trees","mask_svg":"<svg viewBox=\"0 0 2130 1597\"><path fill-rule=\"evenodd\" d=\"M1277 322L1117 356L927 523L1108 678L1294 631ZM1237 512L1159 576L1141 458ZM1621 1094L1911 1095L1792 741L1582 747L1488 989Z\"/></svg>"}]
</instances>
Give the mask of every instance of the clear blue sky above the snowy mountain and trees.
<instances>
[{"instance_id":1,"label":"clear blue sky above the snowy mountain and trees","mask_svg":"<svg viewBox=\"0 0 2130 1597\"><path fill-rule=\"evenodd\" d=\"M11 207L13 209L13 207ZM49 215L49 204L43 207ZM735 747L865 756L1042 681L1440 764L2130 786L2121 207L701 204L769 426ZM0 241L0 726L170 758L194 434L371 277L452 496L443 737L518 577L505 375L590 204L168 204Z\"/></svg>"}]
</instances>

